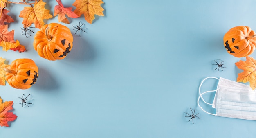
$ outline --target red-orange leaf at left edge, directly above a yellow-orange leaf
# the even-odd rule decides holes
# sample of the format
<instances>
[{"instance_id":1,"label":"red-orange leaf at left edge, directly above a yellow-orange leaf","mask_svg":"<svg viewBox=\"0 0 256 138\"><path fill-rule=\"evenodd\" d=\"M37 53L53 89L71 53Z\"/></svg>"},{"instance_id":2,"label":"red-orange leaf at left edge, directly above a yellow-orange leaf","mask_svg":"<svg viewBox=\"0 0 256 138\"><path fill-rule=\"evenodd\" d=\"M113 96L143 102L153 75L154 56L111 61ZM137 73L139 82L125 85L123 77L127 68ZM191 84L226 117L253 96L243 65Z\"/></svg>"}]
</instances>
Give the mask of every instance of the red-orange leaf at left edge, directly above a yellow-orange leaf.
<instances>
[{"instance_id":1,"label":"red-orange leaf at left edge, directly above a yellow-orange leaf","mask_svg":"<svg viewBox=\"0 0 256 138\"><path fill-rule=\"evenodd\" d=\"M14 41L14 30L9 32L8 25L0 26L0 42L1 41L15 42Z\"/></svg>"}]
</instances>

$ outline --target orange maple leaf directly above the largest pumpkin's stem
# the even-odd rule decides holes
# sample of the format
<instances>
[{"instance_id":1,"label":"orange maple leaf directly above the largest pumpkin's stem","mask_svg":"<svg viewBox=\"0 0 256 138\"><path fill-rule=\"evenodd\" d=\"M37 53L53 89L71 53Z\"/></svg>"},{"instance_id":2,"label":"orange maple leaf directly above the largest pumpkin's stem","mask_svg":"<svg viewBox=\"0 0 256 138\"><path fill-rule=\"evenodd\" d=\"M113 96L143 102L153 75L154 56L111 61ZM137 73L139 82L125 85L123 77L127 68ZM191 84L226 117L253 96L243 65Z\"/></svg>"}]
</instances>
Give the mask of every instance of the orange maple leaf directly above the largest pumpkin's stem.
<instances>
[{"instance_id":1,"label":"orange maple leaf directly above the largest pumpkin's stem","mask_svg":"<svg viewBox=\"0 0 256 138\"><path fill-rule=\"evenodd\" d=\"M40 0L34 4L34 7L24 7L20 11L19 17L23 18L22 24L24 24L24 27L29 27L34 23L35 27L40 29L45 24L44 19L52 18L52 15L49 13L50 10L45 9L45 4L43 0Z\"/></svg>"}]
</instances>

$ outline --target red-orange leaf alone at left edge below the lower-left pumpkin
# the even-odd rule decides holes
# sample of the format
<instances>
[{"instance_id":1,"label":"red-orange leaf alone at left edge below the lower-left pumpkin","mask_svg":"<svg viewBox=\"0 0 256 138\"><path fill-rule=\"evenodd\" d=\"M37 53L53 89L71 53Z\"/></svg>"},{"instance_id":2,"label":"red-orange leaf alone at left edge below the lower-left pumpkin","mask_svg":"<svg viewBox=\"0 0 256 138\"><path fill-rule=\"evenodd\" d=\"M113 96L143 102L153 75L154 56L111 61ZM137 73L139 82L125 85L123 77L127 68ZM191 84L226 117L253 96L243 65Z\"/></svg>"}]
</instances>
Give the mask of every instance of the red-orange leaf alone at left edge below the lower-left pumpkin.
<instances>
[{"instance_id":1,"label":"red-orange leaf alone at left edge below the lower-left pumpkin","mask_svg":"<svg viewBox=\"0 0 256 138\"><path fill-rule=\"evenodd\" d=\"M13 112L8 112L12 110L13 101L5 101L2 103L2 99L0 97L0 125L9 127L8 122L16 120L17 116L13 114Z\"/></svg>"}]
</instances>

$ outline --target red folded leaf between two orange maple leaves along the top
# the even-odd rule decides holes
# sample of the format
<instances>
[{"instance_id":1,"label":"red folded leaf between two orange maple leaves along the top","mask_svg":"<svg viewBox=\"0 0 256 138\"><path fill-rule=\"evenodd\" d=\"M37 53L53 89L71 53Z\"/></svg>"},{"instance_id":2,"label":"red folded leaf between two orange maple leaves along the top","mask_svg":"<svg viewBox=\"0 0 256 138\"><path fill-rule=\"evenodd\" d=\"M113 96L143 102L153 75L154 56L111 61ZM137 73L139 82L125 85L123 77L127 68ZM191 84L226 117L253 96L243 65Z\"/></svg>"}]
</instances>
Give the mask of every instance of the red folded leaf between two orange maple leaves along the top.
<instances>
[{"instance_id":1,"label":"red folded leaf between two orange maple leaves along the top","mask_svg":"<svg viewBox=\"0 0 256 138\"><path fill-rule=\"evenodd\" d=\"M72 11L72 7L65 8L63 6L63 4L61 3L61 0L56 0L56 2L58 2L59 5L56 5L54 7L54 16L58 15L58 21L59 22L69 24L70 22L66 18L66 15L67 15L67 17L70 17L70 18L78 18L76 13L74 13Z\"/></svg>"}]
</instances>

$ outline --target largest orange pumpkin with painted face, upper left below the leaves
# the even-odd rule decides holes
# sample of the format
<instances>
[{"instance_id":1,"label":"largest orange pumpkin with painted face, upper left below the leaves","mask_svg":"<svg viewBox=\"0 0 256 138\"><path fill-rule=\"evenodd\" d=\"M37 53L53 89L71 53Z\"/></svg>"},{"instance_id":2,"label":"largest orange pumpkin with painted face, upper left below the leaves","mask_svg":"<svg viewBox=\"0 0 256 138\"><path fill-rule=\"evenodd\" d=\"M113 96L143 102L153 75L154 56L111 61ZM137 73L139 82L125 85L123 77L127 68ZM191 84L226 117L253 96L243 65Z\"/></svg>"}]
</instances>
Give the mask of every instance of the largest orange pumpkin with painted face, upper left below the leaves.
<instances>
[{"instance_id":1,"label":"largest orange pumpkin with painted face, upper left below the leaves","mask_svg":"<svg viewBox=\"0 0 256 138\"><path fill-rule=\"evenodd\" d=\"M70 29L58 23L44 25L34 37L34 49L48 60L64 59L73 46Z\"/></svg>"}]
</instances>

